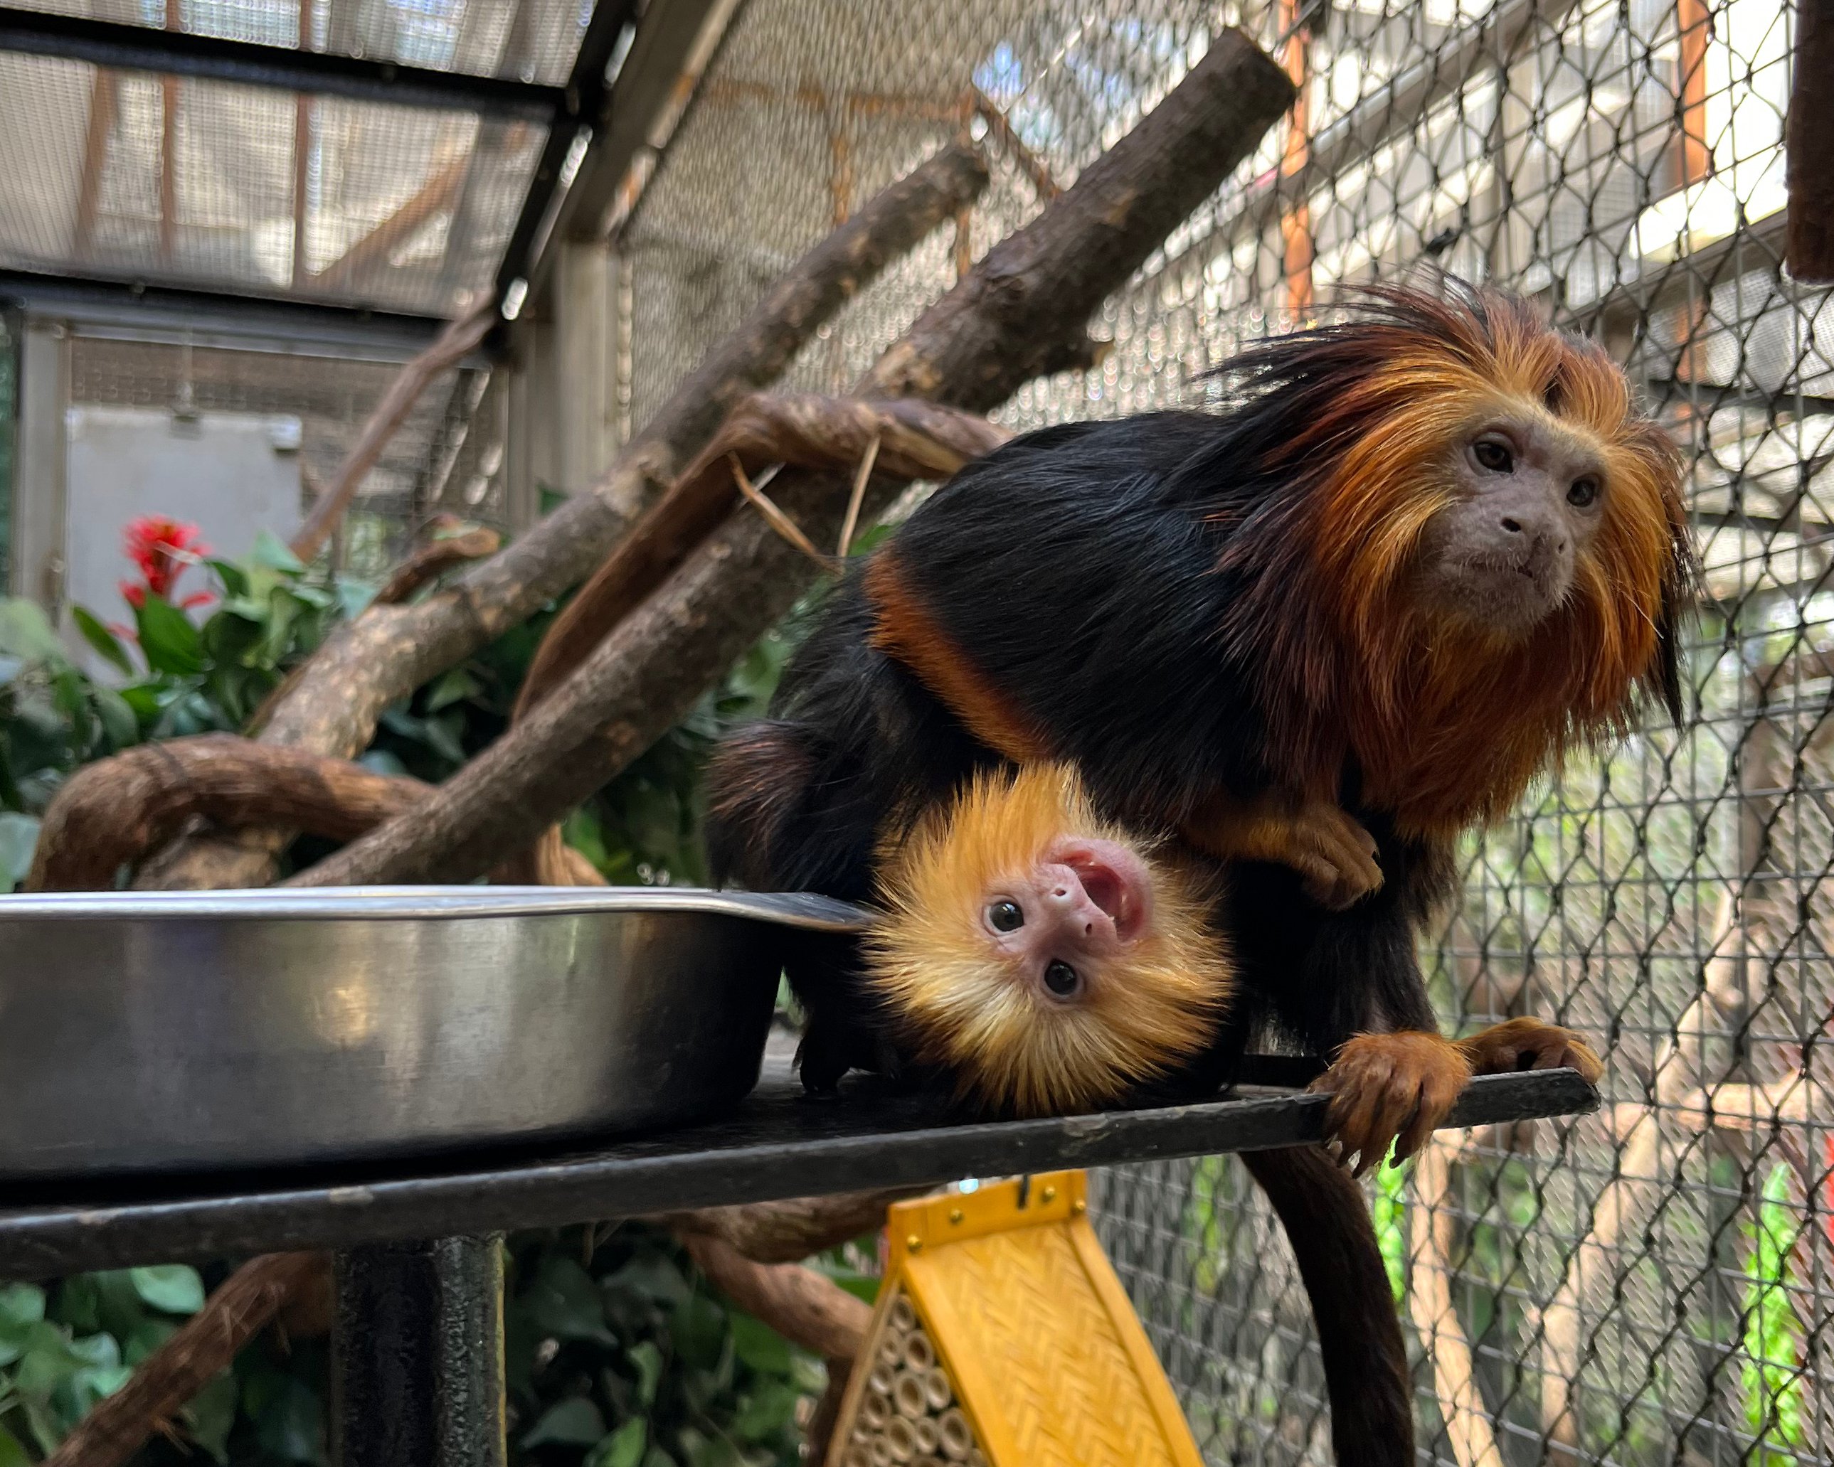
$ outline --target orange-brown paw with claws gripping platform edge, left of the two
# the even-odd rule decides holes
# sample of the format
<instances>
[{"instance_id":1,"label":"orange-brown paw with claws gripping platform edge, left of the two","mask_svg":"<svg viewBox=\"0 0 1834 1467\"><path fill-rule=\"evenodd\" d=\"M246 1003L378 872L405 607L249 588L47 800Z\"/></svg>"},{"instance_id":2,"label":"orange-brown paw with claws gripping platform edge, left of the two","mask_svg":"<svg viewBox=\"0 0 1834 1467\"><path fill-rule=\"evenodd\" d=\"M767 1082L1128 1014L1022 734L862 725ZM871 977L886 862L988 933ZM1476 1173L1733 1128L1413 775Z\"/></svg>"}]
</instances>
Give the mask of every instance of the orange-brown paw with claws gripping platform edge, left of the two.
<instances>
[{"instance_id":1,"label":"orange-brown paw with claws gripping platform edge, left of the two","mask_svg":"<svg viewBox=\"0 0 1834 1467\"><path fill-rule=\"evenodd\" d=\"M1423 1029L1357 1034L1337 1051L1311 1089L1331 1097L1324 1146L1353 1175L1376 1166L1394 1142L1394 1159L1414 1155L1453 1109L1471 1078L1464 1045Z\"/></svg>"}]
</instances>

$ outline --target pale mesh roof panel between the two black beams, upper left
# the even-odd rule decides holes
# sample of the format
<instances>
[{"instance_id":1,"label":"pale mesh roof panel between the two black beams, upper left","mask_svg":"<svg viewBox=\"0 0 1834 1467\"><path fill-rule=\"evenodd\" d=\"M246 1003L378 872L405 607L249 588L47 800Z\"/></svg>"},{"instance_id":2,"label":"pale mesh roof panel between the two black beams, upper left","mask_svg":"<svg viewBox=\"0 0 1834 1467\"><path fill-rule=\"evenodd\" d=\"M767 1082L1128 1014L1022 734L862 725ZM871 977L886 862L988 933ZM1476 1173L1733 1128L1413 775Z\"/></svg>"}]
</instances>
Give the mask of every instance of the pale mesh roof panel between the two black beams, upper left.
<instances>
[{"instance_id":1,"label":"pale mesh roof panel between the two black beams, upper left","mask_svg":"<svg viewBox=\"0 0 1834 1467\"><path fill-rule=\"evenodd\" d=\"M453 315L490 288L545 138L0 55L0 268Z\"/></svg>"}]
</instances>

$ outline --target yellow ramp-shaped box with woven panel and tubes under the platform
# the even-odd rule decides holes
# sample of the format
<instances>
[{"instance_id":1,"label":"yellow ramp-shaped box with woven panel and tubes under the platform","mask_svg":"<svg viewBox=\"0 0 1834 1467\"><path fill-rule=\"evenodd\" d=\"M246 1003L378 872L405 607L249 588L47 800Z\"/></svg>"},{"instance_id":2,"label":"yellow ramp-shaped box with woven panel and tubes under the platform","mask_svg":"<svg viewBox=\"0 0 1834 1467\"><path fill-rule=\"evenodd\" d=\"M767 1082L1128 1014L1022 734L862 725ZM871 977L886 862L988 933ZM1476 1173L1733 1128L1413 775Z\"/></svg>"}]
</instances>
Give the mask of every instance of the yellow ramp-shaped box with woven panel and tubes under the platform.
<instances>
[{"instance_id":1,"label":"yellow ramp-shaped box with woven panel and tubes under the platform","mask_svg":"<svg viewBox=\"0 0 1834 1467\"><path fill-rule=\"evenodd\" d=\"M1082 1172L899 1203L886 1232L827 1467L1201 1467Z\"/></svg>"}]
</instances>

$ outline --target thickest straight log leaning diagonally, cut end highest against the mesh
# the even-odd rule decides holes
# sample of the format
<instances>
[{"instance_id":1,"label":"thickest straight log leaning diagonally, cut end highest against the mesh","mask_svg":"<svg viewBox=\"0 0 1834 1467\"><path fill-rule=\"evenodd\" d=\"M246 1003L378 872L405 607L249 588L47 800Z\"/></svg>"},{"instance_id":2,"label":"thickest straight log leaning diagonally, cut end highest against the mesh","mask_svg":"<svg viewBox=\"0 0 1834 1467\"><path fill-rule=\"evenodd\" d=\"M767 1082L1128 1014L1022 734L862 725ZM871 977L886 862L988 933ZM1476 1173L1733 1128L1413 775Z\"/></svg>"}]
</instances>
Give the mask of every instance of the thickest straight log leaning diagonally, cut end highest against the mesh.
<instances>
[{"instance_id":1,"label":"thickest straight log leaning diagonally, cut end highest against the mesh","mask_svg":"<svg viewBox=\"0 0 1834 1467\"><path fill-rule=\"evenodd\" d=\"M913 396L985 413L1034 376L1089 365L1086 323L1201 204L1293 99L1240 31L1077 185L989 251L862 380L855 396ZM899 491L878 475L866 513ZM787 469L772 497L822 543L847 480ZM293 880L345 886L466 880L624 770L801 594L812 568L754 515L728 517L554 697L440 787Z\"/></svg>"}]
</instances>

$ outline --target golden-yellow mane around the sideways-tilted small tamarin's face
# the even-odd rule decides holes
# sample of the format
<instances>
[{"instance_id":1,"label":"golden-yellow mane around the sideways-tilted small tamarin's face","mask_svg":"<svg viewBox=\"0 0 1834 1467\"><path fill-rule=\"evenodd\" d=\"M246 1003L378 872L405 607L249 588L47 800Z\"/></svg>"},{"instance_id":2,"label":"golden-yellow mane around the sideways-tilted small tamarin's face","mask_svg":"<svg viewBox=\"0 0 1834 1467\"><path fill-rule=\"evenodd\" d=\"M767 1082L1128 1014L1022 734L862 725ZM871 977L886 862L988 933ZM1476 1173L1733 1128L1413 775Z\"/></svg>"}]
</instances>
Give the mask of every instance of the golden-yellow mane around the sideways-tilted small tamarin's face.
<instances>
[{"instance_id":1,"label":"golden-yellow mane around the sideways-tilted small tamarin's face","mask_svg":"<svg viewBox=\"0 0 1834 1467\"><path fill-rule=\"evenodd\" d=\"M1064 834L1130 844L1154 882L1154 917L1124 972L1077 1003L1040 999L989 948L981 911L1003 880ZM1196 1056L1234 981L1210 924L1218 888L1095 816L1075 770L983 772L880 855L884 919L866 939L866 983L915 1053L965 1097L1007 1115L1062 1115L1121 1100Z\"/></svg>"}]
</instances>

